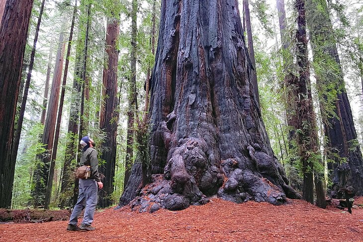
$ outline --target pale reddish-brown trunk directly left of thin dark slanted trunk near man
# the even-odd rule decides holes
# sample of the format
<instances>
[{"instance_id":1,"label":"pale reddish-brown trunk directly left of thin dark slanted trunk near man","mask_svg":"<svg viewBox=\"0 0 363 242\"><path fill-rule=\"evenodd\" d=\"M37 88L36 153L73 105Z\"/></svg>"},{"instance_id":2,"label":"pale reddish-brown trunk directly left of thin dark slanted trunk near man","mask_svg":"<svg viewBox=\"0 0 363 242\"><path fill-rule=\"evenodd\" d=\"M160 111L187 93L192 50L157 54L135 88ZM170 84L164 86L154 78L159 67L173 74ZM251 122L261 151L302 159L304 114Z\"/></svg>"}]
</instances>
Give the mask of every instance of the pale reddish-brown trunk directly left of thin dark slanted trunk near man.
<instances>
[{"instance_id":1,"label":"pale reddish-brown trunk directly left of thin dark slanted trunk near man","mask_svg":"<svg viewBox=\"0 0 363 242\"><path fill-rule=\"evenodd\" d=\"M48 175L50 171L50 160L53 149L54 133L57 120L59 91L62 80L64 49L66 42L64 41L63 26L59 36L59 45L54 67L52 87L50 90L49 107L47 118L45 120L44 131L42 136L42 144L46 152L39 156L40 161L34 171L33 182L35 183L32 191L32 199L34 207L43 207L45 205L46 189L48 184Z\"/></svg>"}]
</instances>

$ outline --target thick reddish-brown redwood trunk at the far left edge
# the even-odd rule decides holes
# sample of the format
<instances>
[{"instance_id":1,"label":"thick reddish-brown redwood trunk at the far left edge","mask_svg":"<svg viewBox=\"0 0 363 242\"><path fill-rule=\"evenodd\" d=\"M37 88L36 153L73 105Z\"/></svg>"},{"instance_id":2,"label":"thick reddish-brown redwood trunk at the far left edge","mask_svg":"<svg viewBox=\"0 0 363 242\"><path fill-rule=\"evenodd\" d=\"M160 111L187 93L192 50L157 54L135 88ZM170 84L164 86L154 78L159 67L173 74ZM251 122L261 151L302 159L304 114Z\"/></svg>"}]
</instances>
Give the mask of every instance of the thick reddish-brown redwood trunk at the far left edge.
<instances>
[{"instance_id":1,"label":"thick reddish-brown redwood trunk at the far left edge","mask_svg":"<svg viewBox=\"0 0 363 242\"><path fill-rule=\"evenodd\" d=\"M15 171L11 142L32 6L33 0L7 0L0 18L0 208L11 205Z\"/></svg>"}]
</instances>

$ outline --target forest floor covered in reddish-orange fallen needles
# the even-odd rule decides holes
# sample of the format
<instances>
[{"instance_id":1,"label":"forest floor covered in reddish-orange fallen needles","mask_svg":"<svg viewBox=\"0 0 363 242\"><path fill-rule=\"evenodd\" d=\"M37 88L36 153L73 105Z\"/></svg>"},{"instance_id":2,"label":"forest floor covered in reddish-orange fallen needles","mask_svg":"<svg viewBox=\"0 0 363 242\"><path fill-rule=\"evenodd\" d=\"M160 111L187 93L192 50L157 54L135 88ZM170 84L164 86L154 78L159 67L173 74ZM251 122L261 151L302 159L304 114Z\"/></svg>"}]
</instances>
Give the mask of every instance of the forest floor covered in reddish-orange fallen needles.
<instances>
[{"instance_id":1,"label":"forest floor covered in reddish-orange fallen needles","mask_svg":"<svg viewBox=\"0 0 363 242\"><path fill-rule=\"evenodd\" d=\"M355 204L363 204L363 197ZM0 224L0 241L363 242L363 208L354 206L349 214L347 209L320 209L301 200L274 206L212 199L203 206L153 214L110 208L96 212L95 231L67 231L67 224Z\"/></svg>"}]
</instances>

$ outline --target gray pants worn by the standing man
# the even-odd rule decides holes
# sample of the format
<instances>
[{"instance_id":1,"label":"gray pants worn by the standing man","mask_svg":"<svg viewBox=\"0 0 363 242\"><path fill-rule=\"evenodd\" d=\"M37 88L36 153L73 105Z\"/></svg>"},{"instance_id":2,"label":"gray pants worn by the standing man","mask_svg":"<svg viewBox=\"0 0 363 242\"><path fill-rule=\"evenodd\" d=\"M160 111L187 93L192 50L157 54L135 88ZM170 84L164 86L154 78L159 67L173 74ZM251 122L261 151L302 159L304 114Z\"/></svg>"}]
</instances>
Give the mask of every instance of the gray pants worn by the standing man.
<instances>
[{"instance_id":1,"label":"gray pants worn by the standing man","mask_svg":"<svg viewBox=\"0 0 363 242\"><path fill-rule=\"evenodd\" d=\"M85 209L82 224L91 225L97 205L97 182L94 179L80 179L79 187L80 193L78 195L77 203L73 208L69 224L77 225L78 216L80 216L82 210Z\"/></svg>"}]
</instances>

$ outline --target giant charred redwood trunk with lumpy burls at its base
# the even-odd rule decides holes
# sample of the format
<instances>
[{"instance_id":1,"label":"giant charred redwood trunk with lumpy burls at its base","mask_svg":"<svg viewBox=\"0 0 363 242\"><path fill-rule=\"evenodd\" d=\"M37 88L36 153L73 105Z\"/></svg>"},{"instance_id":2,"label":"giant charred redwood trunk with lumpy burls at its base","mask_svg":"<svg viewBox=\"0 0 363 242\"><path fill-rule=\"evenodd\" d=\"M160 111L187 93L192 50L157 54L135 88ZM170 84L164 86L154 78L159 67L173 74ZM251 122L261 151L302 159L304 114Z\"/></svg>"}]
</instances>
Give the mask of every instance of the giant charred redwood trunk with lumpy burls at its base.
<instances>
[{"instance_id":1,"label":"giant charred redwood trunk with lumpy burls at its base","mask_svg":"<svg viewBox=\"0 0 363 242\"><path fill-rule=\"evenodd\" d=\"M120 206L185 209L208 197L282 204L300 195L272 153L237 0L163 0L151 81L151 183L137 161ZM138 197L136 197L138 196ZM136 198L135 198L136 197Z\"/></svg>"}]
</instances>

